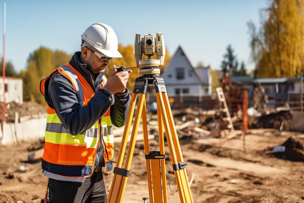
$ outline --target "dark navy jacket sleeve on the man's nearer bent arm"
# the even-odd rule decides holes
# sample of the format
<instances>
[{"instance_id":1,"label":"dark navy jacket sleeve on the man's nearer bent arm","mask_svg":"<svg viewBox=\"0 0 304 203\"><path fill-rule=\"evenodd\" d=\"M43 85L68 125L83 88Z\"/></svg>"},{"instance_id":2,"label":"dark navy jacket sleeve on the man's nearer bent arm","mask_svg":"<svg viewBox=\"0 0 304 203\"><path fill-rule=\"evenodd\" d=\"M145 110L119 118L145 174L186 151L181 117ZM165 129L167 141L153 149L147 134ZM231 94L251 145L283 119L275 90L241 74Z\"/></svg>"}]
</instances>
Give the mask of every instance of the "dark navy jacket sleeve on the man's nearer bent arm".
<instances>
[{"instance_id":1,"label":"dark navy jacket sleeve on the man's nearer bent arm","mask_svg":"<svg viewBox=\"0 0 304 203\"><path fill-rule=\"evenodd\" d=\"M78 135L91 128L112 104L112 98L101 89L97 90L86 106L81 106L71 82L61 74L50 78L45 100L56 111L64 128L71 135Z\"/></svg>"}]
</instances>

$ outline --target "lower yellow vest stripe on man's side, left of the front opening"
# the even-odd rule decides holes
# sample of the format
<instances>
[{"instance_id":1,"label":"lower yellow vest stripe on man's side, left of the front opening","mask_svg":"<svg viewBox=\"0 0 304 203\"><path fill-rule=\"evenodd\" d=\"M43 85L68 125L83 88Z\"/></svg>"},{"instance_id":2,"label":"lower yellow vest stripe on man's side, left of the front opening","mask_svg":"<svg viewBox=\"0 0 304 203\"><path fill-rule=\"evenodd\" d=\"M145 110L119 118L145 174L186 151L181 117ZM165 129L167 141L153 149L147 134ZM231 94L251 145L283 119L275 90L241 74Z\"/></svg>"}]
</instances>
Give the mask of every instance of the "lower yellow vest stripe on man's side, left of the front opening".
<instances>
[{"instance_id":1,"label":"lower yellow vest stripe on man's side, left of the front opening","mask_svg":"<svg viewBox=\"0 0 304 203\"><path fill-rule=\"evenodd\" d=\"M85 135L71 135L69 133L45 132L45 142L53 144L83 144L87 148L96 148L98 138L86 137Z\"/></svg>"}]
</instances>

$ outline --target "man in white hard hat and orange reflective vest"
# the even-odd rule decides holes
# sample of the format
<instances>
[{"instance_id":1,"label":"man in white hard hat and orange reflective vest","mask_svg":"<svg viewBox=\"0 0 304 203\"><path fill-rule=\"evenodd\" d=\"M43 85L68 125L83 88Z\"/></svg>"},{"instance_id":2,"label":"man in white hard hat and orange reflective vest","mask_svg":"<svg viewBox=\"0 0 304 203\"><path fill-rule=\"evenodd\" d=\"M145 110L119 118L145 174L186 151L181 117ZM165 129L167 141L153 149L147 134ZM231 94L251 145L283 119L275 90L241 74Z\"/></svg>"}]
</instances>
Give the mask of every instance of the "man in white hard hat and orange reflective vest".
<instances>
[{"instance_id":1,"label":"man in white hard hat and orange reflective vest","mask_svg":"<svg viewBox=\"0 0 304 203\"><path fill-rule=\"evenodd\" d=\"M113 130L125 125L130 105L128 72L104 76L117 51L114 30L95 23L81 35L81 51L40 83L47 102L42 157L51 203L106 202L102 177L112 170Z\"/></svg>"}]
</instances>

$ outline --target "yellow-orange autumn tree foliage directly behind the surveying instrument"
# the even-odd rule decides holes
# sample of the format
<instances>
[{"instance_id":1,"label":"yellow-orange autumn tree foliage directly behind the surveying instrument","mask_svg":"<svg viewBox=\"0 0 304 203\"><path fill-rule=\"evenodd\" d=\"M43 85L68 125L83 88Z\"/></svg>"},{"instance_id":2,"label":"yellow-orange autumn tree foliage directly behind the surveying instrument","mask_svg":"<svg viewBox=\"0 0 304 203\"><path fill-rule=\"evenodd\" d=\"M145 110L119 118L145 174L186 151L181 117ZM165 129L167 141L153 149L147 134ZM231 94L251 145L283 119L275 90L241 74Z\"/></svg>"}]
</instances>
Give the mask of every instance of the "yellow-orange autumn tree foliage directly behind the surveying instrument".
<instances>
[{"instance_id":1,"label":"yellow-orange autumn tree foliage directly behind the surveying instrument","mask_svg":"<svg viewBox=\"0 0 304 203\"><path fill-rule=\"evenodd\" d=\"M111 60L111 65L109 66L109 71L107 72L107 74L110 74L113 71L113 65L116 65L116 67L119 67L119 66L135 67L136 66L134 55L133 55L133 45L124 46L122 44L119 44L118 51L123 57L122 58L113 58ZM146 60L146 59L147 59L147 56L143 55L143 60ZM152 57L152 59L157 59L156 55L154 55ZM170 59L171 59L171 56L168 53L168 50L166 49L164 65L159 67L161 69L161 71L166 67L166 65L169 64ZM130 76L129 76L127 88L130 91L132 91L132 89L133 89L133 86L135 84L135 79L140 76L140 75L138 75L138 70L139 70L139 68L133 68L132 69L133 73L130 74Z\"/></svg>"}]
</instances>

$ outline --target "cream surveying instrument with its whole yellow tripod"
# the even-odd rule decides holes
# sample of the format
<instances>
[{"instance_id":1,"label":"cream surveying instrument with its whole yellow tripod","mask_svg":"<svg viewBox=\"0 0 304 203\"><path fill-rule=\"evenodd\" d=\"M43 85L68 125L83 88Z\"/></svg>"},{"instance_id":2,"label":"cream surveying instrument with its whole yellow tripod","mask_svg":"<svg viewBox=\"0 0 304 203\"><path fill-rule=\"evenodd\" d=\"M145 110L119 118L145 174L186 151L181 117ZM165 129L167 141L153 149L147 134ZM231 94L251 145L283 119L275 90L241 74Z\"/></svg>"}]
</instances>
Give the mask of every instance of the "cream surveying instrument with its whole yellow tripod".
<instances>
[{"instance_id":1,"label":"cream surveying instrument with its whole yellow tripod","mask_svg":"<svg viewBox=\"0 0 304 203\"><path fill-rule=\"evenodd\" d=\"M148 56L147 60L142 60L143 54ZM154 54L157 55L157 59L151 59L151 56ZM181 154L181 148L175 129L164 80L156 77L156 74L160 74L160 69L156 67L164 64L164 57L165 45L162 33L157 33L155 38L153 34L146 34L142 38L140 33L136 33L134 41L134 58L137 66L131 68L140 68L138 73L141 76L135 80L135 85L133 87L128 117L123 131L123 138L120 144L116 167L114 167L113 171L114 176L107 203L121 203L123 201L123 195L130 173L130 166L141 117L150 203L168 202L164 151L164 129L166 132L166 138L170 150L172 166L181 203L193 203L186 173L187 163L183 160ZM126 71L126 69L127 68L124 66L117 68L118 71ZM157 97L157 120L160 145L159 151L149 151L146 112L146 91L148 84L154 84ZM137 104L130 143L125 165L122 167L138 94L139 101Z\"/></svg>"}]
</instances>

